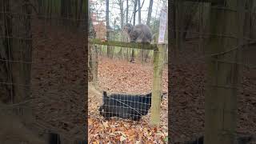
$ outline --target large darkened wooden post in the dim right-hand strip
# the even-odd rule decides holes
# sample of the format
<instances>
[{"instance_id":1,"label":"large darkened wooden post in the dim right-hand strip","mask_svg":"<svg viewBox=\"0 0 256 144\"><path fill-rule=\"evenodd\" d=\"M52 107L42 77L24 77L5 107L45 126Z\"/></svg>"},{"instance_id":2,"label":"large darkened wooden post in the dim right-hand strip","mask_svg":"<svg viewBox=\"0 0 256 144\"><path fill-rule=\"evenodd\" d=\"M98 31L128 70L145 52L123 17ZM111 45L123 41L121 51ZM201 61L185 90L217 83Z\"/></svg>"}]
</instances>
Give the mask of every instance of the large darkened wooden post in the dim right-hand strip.
<instances>
[{"instance_id":1,"label":"large darkened wooden post in the dim right-hand strip","mask_svg":"<svg viewBox=\"0 0 256 144\"><path fill-rule=\"evenodd\" d=\"M241 1L242 3L242 1ZM212 1L207 58L205 139L206 144L233 144L237 124L239 48L242 38L242 6L238 1ZM219 9L218 7L222 7ZM218 34L218 35L215 35ZM229 34L229 36L224 36ZM231 38L232 37L232 38Z\"/></svg>"}]
</instances>

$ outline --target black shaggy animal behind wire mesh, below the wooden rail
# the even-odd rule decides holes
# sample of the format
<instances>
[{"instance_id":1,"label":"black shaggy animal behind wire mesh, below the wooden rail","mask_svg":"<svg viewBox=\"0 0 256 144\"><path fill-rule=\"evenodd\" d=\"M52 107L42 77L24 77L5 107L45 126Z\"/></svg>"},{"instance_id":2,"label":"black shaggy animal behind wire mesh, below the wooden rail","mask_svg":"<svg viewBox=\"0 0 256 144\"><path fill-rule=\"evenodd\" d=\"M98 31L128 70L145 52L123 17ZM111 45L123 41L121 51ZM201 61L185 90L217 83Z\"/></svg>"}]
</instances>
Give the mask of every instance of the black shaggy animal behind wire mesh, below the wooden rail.
<instances>
[{"instance_id":1,"label":"black shaggy animal behind wire mesh, below the wooden rail","mask_svg":"<svg viewBox=\"0 0 256 144\"><path fill-rule=\"evenodd\" d=\"M162 96L166 94L163 93ZM162 98L161 98L162 99ZM143 115L148 114L151 106L150 94L110 94L103 91L103 105L100 106L100 114L108 119L111 117L131 119L139 121Z\"/></svg>"}]
</instances>

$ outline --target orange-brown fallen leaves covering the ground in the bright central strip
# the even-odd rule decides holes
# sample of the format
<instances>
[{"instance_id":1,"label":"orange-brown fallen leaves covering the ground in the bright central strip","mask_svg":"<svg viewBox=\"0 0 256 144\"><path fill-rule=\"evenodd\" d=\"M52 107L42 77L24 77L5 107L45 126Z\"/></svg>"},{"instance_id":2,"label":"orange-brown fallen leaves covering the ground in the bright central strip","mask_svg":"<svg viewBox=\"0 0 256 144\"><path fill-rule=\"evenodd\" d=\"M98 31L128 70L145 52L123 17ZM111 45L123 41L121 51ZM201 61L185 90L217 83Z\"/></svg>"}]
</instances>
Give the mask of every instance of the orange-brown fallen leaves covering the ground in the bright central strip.
<instances>
[{"instance_id":1,"label":"orange-brown fallen leaves covering the ground in the bright central strip","mask_svg":"<svg viewBox=\"0 0 256 144\"><path fill-rule=\"evenodd\" d=\"M167 70L163 70L163 91L167 92ZM111 93L146 94L152 90L153 66L130 63L99 57L98 80L101 90ZM150 114L140 122L113 118L104 120L98 113L102 103L102 93L89 85L88 134L90 143L167 143L168 100L161 103L161 123L159 127L150 126Z\"/></svg>"}]
</instances>

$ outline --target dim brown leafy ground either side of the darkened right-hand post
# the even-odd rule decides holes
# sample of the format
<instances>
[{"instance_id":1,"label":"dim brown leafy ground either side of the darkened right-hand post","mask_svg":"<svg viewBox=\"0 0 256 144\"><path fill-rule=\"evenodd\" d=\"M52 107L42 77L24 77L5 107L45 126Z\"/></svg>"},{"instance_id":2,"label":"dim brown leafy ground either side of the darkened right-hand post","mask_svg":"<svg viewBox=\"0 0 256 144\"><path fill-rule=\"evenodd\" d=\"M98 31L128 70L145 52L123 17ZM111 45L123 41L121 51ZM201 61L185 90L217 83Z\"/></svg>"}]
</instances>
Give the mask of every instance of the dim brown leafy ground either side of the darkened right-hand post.
<instances>
[{"instance_id":1,"label":"dim brown leafy ground either side of the darkened right-hand post","mask_svg":"<svg viewBox=\"0 0 256 144\"><path fill-rule=\"evenodd\" d=\"M255 48L255 47L254 47ZM255 64L246 53L245 62ZM203 134L206 64L196 44L187 44L178 57L170 56L170 138L194 140ZM250 59L249 59L250 58ZM255 65L254 65L255 66ZM242 70L238 95L238 134L256 134L256 70Z\"/></svg>"}]
</instances>

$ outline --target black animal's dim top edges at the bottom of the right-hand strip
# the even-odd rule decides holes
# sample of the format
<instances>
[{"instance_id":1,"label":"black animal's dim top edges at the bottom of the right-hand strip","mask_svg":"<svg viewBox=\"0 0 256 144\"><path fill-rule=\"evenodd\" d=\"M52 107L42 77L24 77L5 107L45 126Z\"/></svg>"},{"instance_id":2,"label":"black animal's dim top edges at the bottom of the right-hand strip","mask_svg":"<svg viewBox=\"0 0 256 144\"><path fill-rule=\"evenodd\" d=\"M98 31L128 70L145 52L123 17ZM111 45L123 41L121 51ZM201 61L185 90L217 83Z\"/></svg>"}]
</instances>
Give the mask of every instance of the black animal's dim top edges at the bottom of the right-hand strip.
<instances>
[{"instance_id":1,"label":"black animal's dim top edges at the bottom of the right-hand strip","mask_svg":"<svg viewBox=\"0 0 256 144\"><path fill-rule=\"evenodd\" d=\"M203 139L204 139L204 136L201 136L200 138L198 138L194 141L182 142L182 143L185 143L185 144L203 144ZM249 135L249 136L238 135L238 138L235 139L234 144L250 144L250 142L253 142L255 140L256 139L252 135ZM180 144L180 142L175 142L175 144Z\"/></svg>"}]
</instances>

